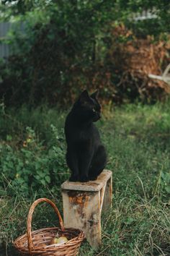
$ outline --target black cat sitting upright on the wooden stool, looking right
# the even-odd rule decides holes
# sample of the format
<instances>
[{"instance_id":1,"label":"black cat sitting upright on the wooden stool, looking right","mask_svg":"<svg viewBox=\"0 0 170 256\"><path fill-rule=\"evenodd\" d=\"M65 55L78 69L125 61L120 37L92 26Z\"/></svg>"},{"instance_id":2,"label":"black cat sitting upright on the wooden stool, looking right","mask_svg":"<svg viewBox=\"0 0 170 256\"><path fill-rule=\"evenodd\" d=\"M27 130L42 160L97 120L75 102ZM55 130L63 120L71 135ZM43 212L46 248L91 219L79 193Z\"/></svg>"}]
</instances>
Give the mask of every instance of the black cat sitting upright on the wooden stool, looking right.
<instances>
[{"instance_id":1,"label":"black cat sitting upright on the wooden stool, looking right","mask_svg":"<svg viewBox=\"0 0 170 256\"><path fill-rule=\"evenodd\" d=\"M101 117L98 92L91 95L84 90L66 117L66 161L71 169L71 182L97 179L107 162L107 155L93 124Z\"/></svg>"}]
</instances>

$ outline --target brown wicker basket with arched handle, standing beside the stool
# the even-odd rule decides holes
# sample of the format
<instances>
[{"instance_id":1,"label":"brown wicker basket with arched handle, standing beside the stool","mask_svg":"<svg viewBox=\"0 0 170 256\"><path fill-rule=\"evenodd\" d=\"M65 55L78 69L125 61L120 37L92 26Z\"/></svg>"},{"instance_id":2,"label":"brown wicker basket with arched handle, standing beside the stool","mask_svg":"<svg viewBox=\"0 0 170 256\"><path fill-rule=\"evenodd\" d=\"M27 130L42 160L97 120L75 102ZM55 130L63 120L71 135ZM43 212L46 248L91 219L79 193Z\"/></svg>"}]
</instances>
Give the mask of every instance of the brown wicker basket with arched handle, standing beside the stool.
<instances>
[{"instance_id":1,"label":"brown wicker basket with arched handle, standing beside the stool","mask_svg":"<svg viewBox=\"0 0 170 256\"><path fill-rule=\"evenodd\" d=\"M57 213L61 228L45 228L31 231L32 214L35 207L40 202L48 202L55 213ZM66 236L66 244L51 244L51 240L56 236ZM40 198L33 202L27 217L27 234L19 236L14 241L14 247L24 255L43 255L43 256L75 256L78 255L81 242L84 240L84 232L79 229L65 229L61 214L56 205L47 198Z\"/></svg>"}]
</instances>

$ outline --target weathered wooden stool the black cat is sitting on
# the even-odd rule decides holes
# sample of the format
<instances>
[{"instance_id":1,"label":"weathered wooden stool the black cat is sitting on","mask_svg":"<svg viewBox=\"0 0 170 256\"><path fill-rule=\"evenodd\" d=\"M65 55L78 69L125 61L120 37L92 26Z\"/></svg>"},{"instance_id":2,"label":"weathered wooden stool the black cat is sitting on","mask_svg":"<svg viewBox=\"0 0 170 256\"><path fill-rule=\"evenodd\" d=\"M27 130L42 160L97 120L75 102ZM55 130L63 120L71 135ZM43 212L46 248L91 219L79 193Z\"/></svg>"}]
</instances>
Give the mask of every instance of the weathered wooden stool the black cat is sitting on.
<instances>
[{"instance_id":1,"label":"weathered wooden stool the black cat is sitting on","mask_svg":"<svg viewBox=\"0 0 170 256\"><path fill-rule=\"evenodd\" d=\"M112 171L104 170L96 181L64 182L63 196L64 226L84 231L92 247L101 244L101 213L112 202Z\"/></svg>"}]
</instances>

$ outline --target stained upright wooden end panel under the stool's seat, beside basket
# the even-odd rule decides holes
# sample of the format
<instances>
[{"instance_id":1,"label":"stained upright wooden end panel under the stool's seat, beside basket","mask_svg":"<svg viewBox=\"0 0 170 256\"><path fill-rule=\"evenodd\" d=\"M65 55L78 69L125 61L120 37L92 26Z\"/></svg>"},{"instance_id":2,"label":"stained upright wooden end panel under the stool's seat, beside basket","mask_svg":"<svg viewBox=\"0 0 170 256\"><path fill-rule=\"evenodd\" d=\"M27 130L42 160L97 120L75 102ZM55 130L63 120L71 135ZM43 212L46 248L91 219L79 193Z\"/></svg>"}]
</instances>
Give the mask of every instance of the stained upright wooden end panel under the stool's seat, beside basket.
<instances>
[{"instance_id":1,"label":"stained upright wooden end panel under the stool's seat, beside basket","mask_svg":"<svg viewBox=\"0 0 170 256\"><path fill-rule=\"evenodd\" d=\"M63 190L63 220L67 228L84 231L91 247L102 242L100 192Z\"/></svg>"}]
</instances>

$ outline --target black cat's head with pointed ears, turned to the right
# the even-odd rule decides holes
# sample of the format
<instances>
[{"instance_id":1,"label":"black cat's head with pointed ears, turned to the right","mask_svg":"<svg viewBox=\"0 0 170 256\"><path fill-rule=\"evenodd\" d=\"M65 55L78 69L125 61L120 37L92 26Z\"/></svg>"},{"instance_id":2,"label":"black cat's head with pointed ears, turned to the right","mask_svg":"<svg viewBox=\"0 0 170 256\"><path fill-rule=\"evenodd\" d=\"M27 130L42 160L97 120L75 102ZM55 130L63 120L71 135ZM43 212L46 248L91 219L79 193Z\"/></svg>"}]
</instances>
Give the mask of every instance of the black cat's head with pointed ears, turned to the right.
<instances>
[{"instance_id":1,"label":"black cat's head with pointed ears, turned to the right","mask_svg":"<svg viewBox=\"0 0 170 256\"><path fill-rule=\"evenodd\" d=\"M97 101L97 96L98 91L89 95L87 90L84 90L76 101L76 108L86 121L97 121L101 117L101 106Z\"/></svg>"}]
</instances>

